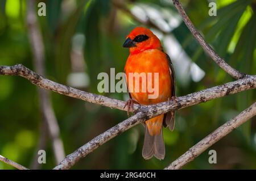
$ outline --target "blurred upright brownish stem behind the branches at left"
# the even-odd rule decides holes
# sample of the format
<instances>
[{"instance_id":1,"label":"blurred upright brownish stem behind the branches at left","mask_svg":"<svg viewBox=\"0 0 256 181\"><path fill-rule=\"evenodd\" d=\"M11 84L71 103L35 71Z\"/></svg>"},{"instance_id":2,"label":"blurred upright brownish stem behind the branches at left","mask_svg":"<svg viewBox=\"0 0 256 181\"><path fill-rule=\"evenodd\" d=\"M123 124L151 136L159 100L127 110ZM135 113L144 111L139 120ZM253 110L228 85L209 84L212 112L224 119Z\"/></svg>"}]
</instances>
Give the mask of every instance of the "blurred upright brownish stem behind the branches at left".
<instances>
[{"instance_id":1,"label":"blurred upright brownish stem behind the branches at left","mask_svg":"<svg viewBox=\"0 0 256 181\"><path fill-rule=\"evenodd\" d=\"M44 45L42 33L40 32L35 14L35 1L28 0L27 5L28 36L30 38L32 53L34 54L35 69L36 72L44 75ZM65 157L63 142L60 138L60 128L52 108L49 92L40 88L38 89L38 92L40 110L42 112L44 121L47 123L46 125L51 138L53 153L55 155L55 162L57 164ZM43 138L43 136L46 136L46 134L41 134L40 139L46 140L46 138Z\"/></svg>"}]
</instances>

